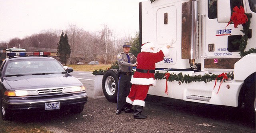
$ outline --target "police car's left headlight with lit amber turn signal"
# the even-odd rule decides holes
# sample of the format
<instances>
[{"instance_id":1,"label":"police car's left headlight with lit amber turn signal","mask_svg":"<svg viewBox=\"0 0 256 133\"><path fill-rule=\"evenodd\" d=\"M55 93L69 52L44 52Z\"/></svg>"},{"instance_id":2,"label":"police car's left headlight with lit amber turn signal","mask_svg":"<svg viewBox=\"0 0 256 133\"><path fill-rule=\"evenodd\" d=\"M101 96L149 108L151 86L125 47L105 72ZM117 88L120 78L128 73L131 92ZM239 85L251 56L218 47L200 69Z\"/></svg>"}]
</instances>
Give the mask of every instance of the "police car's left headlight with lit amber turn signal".
<instances>
[{"instance_id":1,"label":"police car's left headlight with lit amber turn signal","mask_svg":"<svg viewBox=\"0 0 256 133\"><path fill-rule=\"evenodd\" d=\"M18 91L5 91L4 95L15 97L15 96L27 96L27 95L39 95L39 93L34 90L18 90Z\"/></svg>"}]
</instances>

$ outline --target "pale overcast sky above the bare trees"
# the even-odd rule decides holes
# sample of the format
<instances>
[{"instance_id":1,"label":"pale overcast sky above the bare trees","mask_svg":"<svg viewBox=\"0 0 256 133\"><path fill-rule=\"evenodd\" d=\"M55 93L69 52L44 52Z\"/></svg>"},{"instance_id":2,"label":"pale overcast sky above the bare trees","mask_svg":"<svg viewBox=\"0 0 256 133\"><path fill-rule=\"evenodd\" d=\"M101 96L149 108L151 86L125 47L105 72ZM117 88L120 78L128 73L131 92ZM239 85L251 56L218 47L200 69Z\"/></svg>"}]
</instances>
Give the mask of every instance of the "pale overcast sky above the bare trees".
<instances>
[{"instance_id":1,"label":"pale overcast sky above the bare trees","mask_svg":"<svg viewBox=\"0 0 256 133\"><path fill-rule=\"evenodd\" d=\"M139 31L138 3L145 0L0 0L0 42L75 24L98 31L107 24L116 34Z\"/></svg>"}]
</instances>

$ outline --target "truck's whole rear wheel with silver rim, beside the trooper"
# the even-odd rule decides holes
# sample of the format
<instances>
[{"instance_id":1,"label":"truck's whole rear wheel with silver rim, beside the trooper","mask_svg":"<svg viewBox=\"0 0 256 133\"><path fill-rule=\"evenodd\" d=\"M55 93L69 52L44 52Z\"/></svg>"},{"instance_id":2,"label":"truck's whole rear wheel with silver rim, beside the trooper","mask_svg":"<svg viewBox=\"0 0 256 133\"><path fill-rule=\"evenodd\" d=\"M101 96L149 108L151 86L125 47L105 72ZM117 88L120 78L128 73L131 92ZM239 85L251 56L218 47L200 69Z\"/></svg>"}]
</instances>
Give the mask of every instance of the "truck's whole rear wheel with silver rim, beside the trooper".
<instances>
[{"instance_id":1,"label":"truck's whole rear wheel with silver rim, beside the trooper","mask_svg":"<svg viewBox=\"0 0 256 133\"><path fill-rule=\"evenodd\" d=\"M117 69L109 69L103 75L102 79L103 93L110 102L116 102L118 91L118 71Z\"/></svg>"}]
</instances>

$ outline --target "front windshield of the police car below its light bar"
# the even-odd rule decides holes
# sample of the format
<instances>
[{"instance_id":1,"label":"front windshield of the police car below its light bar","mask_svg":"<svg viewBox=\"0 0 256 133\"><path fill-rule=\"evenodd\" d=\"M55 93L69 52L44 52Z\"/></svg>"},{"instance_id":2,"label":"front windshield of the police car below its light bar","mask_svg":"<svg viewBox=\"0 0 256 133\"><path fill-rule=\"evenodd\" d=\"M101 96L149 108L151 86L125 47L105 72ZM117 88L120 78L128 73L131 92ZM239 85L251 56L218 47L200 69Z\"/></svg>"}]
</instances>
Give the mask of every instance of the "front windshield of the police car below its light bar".
<instances>
[{"instance_id":1,"label":"front windshield of the police car below its light bar","mask_svg":"<svg viewBox=\"0 0 256 133\"><path fill-rule=\"evenodd\" d=\"M6 62L4 75L30 75L35 73L62 73L62 65L52 59L22 59Z\"/></svg>"}]
</instances>

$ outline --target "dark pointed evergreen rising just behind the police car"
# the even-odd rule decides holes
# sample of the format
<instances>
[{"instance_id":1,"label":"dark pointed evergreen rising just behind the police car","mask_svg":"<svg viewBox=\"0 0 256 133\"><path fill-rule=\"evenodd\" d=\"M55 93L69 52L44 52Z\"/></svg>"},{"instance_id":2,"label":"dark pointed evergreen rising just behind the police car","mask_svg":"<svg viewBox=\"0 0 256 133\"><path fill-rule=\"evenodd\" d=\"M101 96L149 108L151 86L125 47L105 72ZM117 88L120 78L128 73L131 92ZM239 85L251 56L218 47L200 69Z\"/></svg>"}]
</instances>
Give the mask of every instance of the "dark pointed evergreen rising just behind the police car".
<instances>
[{"instance_id":1,"label":"dark pointed evergreen rising just behind the police car","mask_svg":"<svg viewBox=\"0 0 256 133\"><path fill-rule=\"evenodd\" d=\"M68 35L66 33L64 36L64 33L62 32L60 35L60 41L58 42L57 56L60 58L60 61L66 65L68 58L70 58L70 54L71 49L68 43Z\"/></svg>"}]
</instances>

